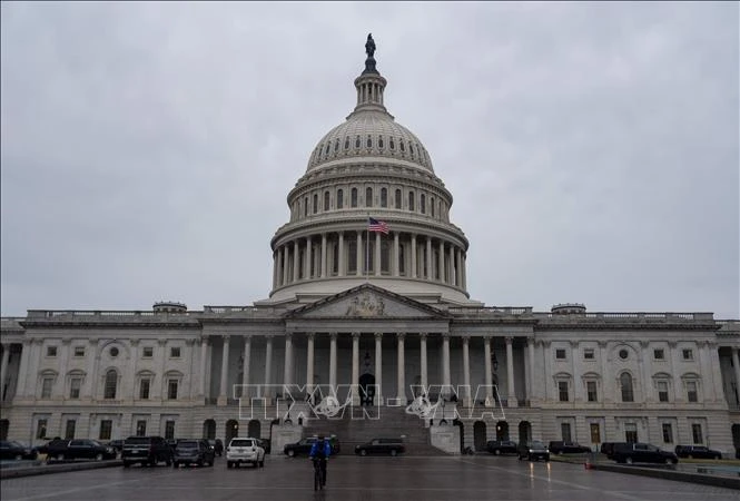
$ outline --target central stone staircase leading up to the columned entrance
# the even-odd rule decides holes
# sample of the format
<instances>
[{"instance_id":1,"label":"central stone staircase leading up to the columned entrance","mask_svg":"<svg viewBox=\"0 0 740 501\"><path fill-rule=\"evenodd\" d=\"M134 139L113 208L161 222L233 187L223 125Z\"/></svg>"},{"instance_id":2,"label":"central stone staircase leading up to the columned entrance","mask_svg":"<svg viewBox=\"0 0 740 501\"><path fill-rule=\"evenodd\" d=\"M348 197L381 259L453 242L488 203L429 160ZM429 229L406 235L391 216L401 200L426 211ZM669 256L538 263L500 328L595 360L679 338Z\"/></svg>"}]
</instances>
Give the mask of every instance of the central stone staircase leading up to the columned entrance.
<instances>
[{"instance_id":1,"label":"central stone staircase leading up to the columned entrance","mask_svg":"<svg viewBox=\"0 0 740 501\"><path fill-rule=\"evenodd\" d=\"M342 419L313 419L305 423L303 435L336 435L343 454L352 454L355 445L377 438L403 438L407 455L445 454L430 444L430 430L424 420L406 414L404 407L368 409L368 413L374 411L375 414L371 413L371 418L363 415L363 409L347 407L348 413ZM353 412L354 415L349 412Z\"/></svg>"}]
</instances>

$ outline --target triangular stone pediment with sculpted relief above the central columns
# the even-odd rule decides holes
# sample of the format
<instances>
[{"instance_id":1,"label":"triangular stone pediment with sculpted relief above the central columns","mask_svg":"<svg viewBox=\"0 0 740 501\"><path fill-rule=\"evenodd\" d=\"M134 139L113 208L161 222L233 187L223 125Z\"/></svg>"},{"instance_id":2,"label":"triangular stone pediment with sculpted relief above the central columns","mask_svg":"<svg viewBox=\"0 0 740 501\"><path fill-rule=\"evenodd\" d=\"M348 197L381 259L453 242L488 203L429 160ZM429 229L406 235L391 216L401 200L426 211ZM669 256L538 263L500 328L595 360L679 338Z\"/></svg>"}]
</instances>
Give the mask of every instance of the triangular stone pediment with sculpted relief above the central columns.
<instances>
[{"instance_id":1,"label":"triangular stone pediment with sculpted relief above the central columns","mask_svg":"<svg viewBox=\"0 0 740 501\"><path fill-rule=\"evenodd\" d=\"M428 305L371 284L294 310L290 318L445 318Z\"/></svg>"}]
</instances>

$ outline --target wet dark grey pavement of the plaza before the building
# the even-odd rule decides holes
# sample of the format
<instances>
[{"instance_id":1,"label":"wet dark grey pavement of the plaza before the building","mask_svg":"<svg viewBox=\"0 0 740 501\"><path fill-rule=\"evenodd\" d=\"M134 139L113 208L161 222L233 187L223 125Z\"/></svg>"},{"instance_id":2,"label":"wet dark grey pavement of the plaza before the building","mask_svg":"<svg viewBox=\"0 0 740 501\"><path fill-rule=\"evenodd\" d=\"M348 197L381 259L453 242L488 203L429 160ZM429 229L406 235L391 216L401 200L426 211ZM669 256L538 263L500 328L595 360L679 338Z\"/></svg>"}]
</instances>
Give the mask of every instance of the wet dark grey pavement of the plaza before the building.
<instances>
[{"instance_id":1,"label":"wet dark grey pavement of the plaza before the building","mask_svg":"<svg viewBox=\"0 0 740 501\"><path fill-rule=\"evenodd\" d=\"M267 456L265 468L108 468L0 482L3 501L20 500L341 500L341 501L719 501L740 491L585 470L582 464L529 463L515 456L339 455L329 461L327 488L313 490L303 459Z\"/></svg>"}]
</instances>

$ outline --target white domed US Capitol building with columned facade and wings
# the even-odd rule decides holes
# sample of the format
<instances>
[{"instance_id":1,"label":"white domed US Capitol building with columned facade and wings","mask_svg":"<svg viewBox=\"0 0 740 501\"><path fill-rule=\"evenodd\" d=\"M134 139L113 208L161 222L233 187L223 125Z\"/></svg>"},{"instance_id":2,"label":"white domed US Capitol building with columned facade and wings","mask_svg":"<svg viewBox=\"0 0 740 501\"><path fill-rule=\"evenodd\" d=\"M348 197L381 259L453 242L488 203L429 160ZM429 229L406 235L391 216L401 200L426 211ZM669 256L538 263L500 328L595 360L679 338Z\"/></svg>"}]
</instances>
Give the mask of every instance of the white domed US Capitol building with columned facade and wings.
<instances>
[{"instance_id":1,"label":"white domed US Capitol building with columned facade and wings","mask_svg":"<svg viewBox=\"0 0 740 501\"><path fill-rule=\"evenodd\" d=\"M317 389L346 386L337 400L348 412L335 422L343 441L353 441L352 412L371 409L381 413L373 433L451 452L535 438L704 444L732 456L740 322L472 299L452 194L386 109L374 52L368 37L354 110L288 194L269 296L3 317L2 439L332 432L307 404ZM420 396L434 414L405 412Z\"/></svg>"}]
</instances>

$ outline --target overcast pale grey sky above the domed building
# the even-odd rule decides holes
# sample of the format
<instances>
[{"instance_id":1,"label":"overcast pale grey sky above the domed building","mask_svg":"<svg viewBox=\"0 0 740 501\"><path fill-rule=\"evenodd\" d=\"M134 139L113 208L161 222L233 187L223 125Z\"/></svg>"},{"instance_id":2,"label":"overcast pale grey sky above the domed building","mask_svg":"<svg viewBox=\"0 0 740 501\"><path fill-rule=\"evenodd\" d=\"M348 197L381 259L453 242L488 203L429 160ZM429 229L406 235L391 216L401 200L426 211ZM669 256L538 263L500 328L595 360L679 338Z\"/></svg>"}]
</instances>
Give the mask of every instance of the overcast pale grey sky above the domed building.
<instances>
[{"instance_id":1,"label":"overcast pale grey sky above the domed building","mask_svg":"<svg viewBox=\"0 0 740 501\"><path fill-rule=\"evenodd\" d=\"M3 316L266 298L372 31L472 297L740 317L736 2L1 9Z\"/></svg>"}]
</instances>

